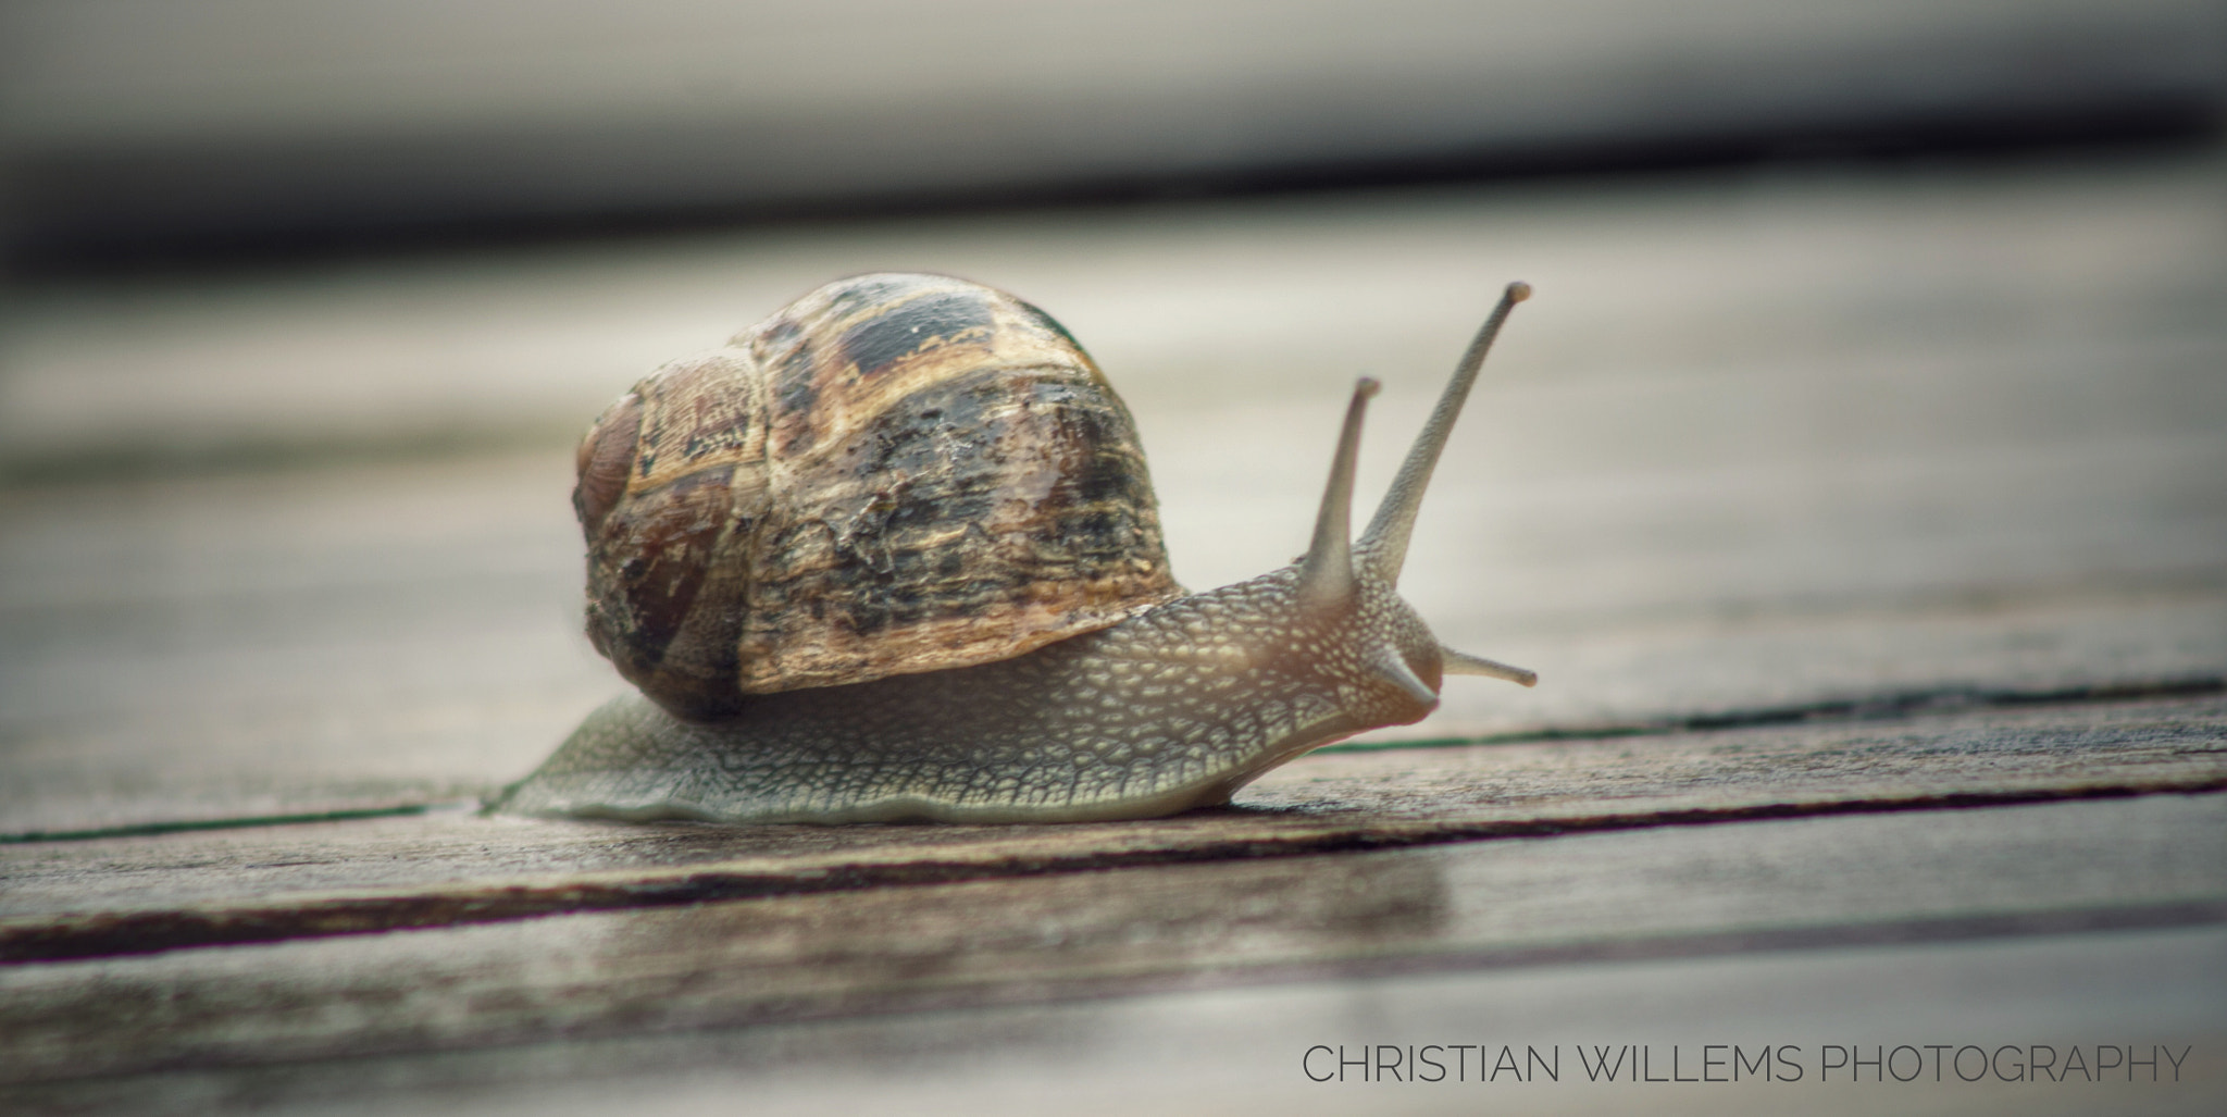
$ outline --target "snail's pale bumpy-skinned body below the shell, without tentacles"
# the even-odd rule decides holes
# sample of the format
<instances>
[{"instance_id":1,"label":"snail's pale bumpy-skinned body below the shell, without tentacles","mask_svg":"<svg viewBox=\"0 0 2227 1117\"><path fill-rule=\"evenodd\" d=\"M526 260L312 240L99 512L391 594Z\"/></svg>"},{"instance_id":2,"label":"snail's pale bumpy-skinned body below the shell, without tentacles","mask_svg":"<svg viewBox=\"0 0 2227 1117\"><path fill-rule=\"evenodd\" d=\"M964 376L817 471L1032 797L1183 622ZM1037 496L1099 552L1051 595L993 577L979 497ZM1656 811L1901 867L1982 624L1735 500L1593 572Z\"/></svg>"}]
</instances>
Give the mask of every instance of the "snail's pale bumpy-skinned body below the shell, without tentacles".
<instances>
[{"instance_id":1,"label":"snail's pale bumpy-skinned body below the shell, without tentacles","mask_svg":"<svg viewBox=\"0 0 2227 1117\"><path fill-rule=\"evenodd\" d=\"M1436 707L1439 644L1390 586L1309 618L1296 566L1033 653L759 696L722 722L597 709L503 809L722 823L1073 823L1227 803L1254 776Z\"/></svg>"}]
</instances>

